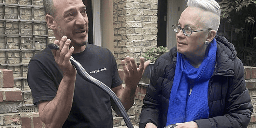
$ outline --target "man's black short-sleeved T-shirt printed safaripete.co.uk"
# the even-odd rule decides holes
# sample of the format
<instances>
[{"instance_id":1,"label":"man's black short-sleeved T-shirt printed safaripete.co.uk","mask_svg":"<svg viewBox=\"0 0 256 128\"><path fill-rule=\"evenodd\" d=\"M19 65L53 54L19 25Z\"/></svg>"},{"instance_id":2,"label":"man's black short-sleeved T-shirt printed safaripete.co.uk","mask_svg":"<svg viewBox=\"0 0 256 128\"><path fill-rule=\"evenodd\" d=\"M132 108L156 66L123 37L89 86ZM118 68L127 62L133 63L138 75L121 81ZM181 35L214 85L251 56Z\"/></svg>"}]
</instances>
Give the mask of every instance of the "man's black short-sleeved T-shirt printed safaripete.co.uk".
<instances>
[{"instance_id":1,"label":"man's black short-sleeved T-shirt printed safaripete.co.uk","mask_svg":"<svg viewBox=\"0 0 256 128\"><path fill-rule=\"evenodd\" d=\"M108 87L113 88L122 84L115 58L108 49L87 44L83 52L72 56L91 76ZM62 77L51 49L46 48L36 54L28 66L28 84L34 104L54 99ZM101 128L102 126L113 127L110 97L77 74L71 112L62 128Z\"/></svg>"}]
</instances>

